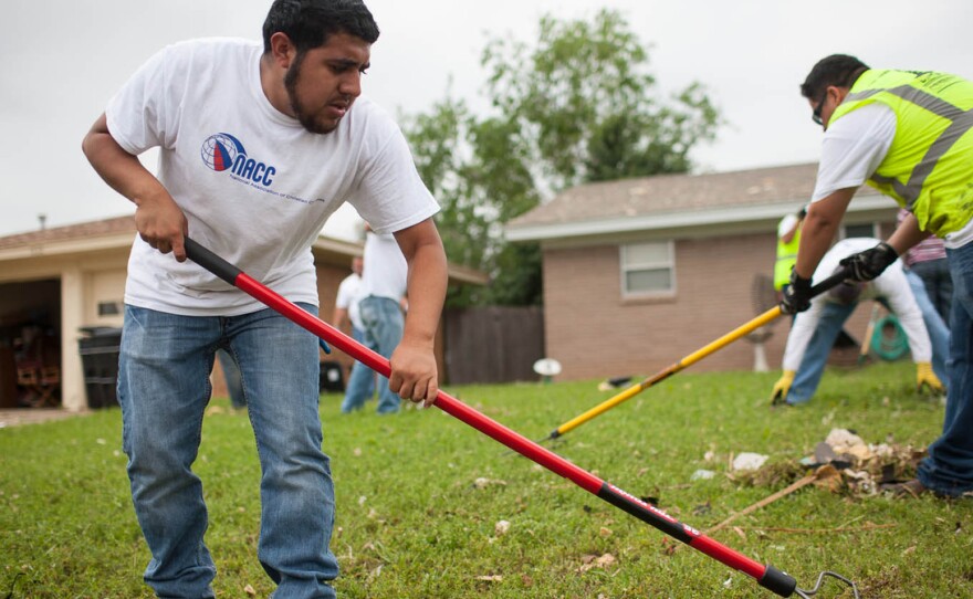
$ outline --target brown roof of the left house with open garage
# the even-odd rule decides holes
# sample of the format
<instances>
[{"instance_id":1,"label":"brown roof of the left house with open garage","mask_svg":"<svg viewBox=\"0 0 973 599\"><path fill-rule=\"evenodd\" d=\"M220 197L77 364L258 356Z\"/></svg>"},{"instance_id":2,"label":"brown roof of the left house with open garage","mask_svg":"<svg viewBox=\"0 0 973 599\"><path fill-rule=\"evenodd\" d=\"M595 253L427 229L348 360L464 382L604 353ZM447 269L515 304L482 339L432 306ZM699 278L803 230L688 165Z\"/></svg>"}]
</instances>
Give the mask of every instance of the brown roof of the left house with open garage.
<instances>
[{"instance_id":1,"label":"brown roof of the left house with open garage","mask_svg":"<svg viewBox=\"0 0 973 599\"><path fill-rule=\"evenodd\" d=\"M17 233L0 238L0 262L127 248L132 245L135 233L134 216ZM346 263L351 256L362 255L362 243L327 235L318 235L312 246L316 260L332 264ZM449 264L449 279L451 283L473 285L490 282L485 273L459 264Z\"/></svg>"}]
</instances>

